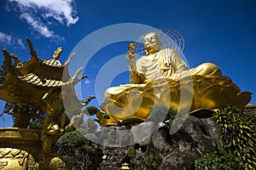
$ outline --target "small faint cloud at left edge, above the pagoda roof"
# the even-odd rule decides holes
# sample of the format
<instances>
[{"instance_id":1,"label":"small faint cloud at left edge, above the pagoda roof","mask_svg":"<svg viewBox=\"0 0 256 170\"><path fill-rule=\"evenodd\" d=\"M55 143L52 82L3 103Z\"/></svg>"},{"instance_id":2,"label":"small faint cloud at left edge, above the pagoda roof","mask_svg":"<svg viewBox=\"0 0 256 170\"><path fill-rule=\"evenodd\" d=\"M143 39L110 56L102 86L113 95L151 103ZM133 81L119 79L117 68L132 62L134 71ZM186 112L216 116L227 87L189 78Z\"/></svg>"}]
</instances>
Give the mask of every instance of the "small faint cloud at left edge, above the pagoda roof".
<instances>
[{"instance_id":1,"label":"small faint cloud at left edge, above the pagoda roof","mask_svg":"<svg viewBox=\"0 0 256 170\"><path fill-rule=\"evenodd\" d=\"M13 37L0 31L0 44L4 46L11 46L14 48L25 48L24 43L20 38Z\"/></svg>"}]
</instances>

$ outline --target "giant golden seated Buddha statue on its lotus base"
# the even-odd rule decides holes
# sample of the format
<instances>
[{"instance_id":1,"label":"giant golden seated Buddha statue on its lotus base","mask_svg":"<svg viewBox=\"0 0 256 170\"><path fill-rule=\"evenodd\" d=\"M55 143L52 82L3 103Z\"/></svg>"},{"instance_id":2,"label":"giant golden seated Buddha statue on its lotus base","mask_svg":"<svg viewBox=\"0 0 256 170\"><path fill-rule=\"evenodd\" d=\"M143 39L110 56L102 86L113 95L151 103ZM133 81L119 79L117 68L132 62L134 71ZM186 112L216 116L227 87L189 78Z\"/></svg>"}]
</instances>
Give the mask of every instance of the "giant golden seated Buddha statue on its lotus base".
<instances>
[{"instance_id":1,"label":"giant golden seated Buddha statue on its lotus base","mask_svg":"<svg viewBox=\"0 0 256 170\"><path fill-rule=\"evenodd\" d=\"M97 114L100 124L143 122L150 108L160 104L174 109L189 107L191 114L228 104L243 109L251 99L250 93L241 93L229 77L223 77L217 65L204 63L189 70L177 50L162 48L156 32L146 34L143 44L146 54L140 59L134 52L134 44L130 44L126 59L130 65L131 84L107 89L102 111ZM189 102L182 101L182 90L191 95Z\"/></svg>"}]
</instances>

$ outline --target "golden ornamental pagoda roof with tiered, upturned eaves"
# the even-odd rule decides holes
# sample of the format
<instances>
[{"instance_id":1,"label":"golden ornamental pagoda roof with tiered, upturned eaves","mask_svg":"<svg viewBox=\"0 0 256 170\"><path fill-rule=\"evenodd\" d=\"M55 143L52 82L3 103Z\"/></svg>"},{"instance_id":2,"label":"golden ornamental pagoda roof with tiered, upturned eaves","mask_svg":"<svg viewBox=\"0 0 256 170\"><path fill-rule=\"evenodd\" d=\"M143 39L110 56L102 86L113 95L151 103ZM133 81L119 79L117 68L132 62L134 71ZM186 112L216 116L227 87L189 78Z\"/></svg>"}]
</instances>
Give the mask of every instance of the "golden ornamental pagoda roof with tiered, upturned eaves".
<instances>
[{"instance_id":1,"label":"golden ornamental pagoda roof with tiered, upturned eaves","mask_svg":"<svg viewBox=\"0 0 256 170\"><path fill-rule=\"evenodd\" d=\"M9 54L3 49L6 77L0 85L0 98L12 104L29 105L33 108L44 110L46 108L42 98L49 90L55 89L59 93L62 87L67 87L70 99L78 104L74 92L74 85L84 77L78 77L82 68L70 77L67 66L73 58L72 54L64 65L58 60L62 48L57 48L52 59L39 59L37 52L32 47L32 42L26 39L30 48L31 58L26 63L21 63L17 56Z\"/></svg>"}]
</instances>

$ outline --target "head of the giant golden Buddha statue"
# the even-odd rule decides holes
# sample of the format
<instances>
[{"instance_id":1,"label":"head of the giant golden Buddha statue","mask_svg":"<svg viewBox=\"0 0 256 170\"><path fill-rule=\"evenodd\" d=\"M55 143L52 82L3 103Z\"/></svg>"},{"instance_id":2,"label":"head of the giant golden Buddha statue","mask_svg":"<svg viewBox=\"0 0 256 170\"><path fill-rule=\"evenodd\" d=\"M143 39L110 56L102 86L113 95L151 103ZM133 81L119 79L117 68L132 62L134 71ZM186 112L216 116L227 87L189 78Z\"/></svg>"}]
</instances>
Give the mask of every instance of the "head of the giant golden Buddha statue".
<instances>
[{"instance_id":1,"label":"head of the giant golden Buddha statue","mask_svg":"<svg viewBox=\"0 0 256 170\"><path fill-rule=\"evenodd\" d=\"M147 54L157 53L162 48L162 42L160 37L155 32L149 32L143 38L144 46L147 51Z\"/></svg>"}]
</instances>

